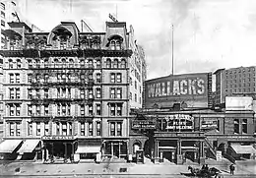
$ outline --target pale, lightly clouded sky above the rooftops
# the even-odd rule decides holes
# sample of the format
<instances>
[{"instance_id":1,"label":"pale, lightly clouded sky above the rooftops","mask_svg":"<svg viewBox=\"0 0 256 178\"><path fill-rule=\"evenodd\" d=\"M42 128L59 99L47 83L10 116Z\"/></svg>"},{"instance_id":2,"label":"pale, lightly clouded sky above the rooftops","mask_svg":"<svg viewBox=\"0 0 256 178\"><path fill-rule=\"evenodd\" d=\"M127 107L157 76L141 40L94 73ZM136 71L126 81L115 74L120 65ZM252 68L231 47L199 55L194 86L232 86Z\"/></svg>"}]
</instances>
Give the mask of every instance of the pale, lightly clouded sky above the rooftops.
<instances>
[{"instance_id":1,"label":"pale, lightly clouded sky above the rooftops","mask_svg":"<svg viewBox=\"0 0 256 178\"><path fill-rule=\"evenodd\" d=\"M19 0L19 6L45 31L67 20L105 31L109 13L132 25L149 80L171 74L172 25L174 74L256 65L255 0Z\"/></svg>"}]
</instances>

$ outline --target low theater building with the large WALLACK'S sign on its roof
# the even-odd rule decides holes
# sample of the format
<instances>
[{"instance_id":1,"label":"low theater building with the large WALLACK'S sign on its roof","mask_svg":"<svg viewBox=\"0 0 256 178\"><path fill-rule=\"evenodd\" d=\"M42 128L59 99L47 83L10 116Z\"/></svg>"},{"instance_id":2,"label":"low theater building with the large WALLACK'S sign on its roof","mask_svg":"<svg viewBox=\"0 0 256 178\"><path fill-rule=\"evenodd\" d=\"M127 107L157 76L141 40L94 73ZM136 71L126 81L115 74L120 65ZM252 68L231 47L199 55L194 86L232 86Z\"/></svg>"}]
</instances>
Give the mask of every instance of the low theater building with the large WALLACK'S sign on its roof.
<instances>
[{"instance_id":1,"label":"low theater building with the large WALLACK'S sign on its roof","mask_svg":"<svg viewBox=\"0 0 256 178\"><path fill-rule=\"evenodd\" d=\"M207 157L219 158L220 151L230 161L253 158L256 149L252 106L239 110L234 102L236 109L227 105L226 109L215 110L211 106L211 90L211 74L146 81L147 108L135 113L131 121L130 149L138 146L154 162L177 164L186 159L204 163Z\"/></svg>"}]
</instances>

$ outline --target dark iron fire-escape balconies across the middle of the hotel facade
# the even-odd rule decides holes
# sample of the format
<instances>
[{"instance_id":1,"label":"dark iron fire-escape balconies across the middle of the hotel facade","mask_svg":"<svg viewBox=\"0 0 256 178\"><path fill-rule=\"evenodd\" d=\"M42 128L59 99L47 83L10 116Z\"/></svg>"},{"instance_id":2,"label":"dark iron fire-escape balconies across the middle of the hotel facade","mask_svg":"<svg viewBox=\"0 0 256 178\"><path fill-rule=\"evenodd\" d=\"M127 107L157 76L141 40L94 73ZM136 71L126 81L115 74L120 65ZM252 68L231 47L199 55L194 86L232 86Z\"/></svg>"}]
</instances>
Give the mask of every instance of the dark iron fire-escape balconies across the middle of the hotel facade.
<instances>
[{"instance_id":1,"label":"dark iron fire-escape balconies across the middle of the hotel facade","mask_svg":"<svg viewBox=\"0 0 256 178\"><path fill-rule=\"evenodd\" d=\"M32 95L32 105L92 104L94 100L93 63L47 63L44 61L44 63L30 65L30 69L32 70L31 88L35 90L35 94ZM59 93L61 89L65 89L64 94ZM72 89L73 92L71 92ZM80 94L81 89L85 90L83 97ZM43 90L44 94L41 94L40 91L38 93L36 90ZM89 90L92 90L92 94ZM79 116L78 114L54 116L50 112L43 116L33 115L35 120L42 118L52 121L83 120L85 117L88 116Z\"/></svg>"}]
</instances>

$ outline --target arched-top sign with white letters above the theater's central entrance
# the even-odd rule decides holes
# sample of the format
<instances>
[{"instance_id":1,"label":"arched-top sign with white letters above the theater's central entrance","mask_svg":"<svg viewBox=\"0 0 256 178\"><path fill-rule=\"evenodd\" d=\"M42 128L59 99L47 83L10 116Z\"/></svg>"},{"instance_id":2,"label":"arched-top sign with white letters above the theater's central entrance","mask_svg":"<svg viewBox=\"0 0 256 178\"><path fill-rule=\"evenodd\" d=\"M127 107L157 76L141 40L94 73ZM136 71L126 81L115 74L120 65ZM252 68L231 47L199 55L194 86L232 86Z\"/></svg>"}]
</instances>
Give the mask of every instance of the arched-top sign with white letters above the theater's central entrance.
<instances>
[{"instance_id":1,"label":"arched-top sign with white letters above the theater's central entrance","mask_svg":"<svg viewBox=\"0 0 256 178\"><path fill-rule=\"evenodd\" d=\"M174 114L165 116L166 129L192 130L194 128L194 117L185 114Z\"/></svg>"}]
</instances>

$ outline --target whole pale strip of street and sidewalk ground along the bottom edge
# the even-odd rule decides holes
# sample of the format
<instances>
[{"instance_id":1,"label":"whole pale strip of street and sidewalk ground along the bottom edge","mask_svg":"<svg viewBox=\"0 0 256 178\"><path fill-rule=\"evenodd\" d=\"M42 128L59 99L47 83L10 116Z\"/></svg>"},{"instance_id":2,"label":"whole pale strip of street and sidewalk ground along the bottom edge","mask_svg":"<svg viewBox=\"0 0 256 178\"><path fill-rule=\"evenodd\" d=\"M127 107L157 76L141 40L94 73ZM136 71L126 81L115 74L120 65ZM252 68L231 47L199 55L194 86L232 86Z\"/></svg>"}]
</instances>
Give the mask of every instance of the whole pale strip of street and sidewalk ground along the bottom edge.
<instances>
[{"instance_id":1,"label":"whole pale strip of street and sidewalk ground along the bottom edge","mask_svg":"<svg viewBox=\"0 0 256 178\"><path fill-rule=\"evenodd\" d=\"M256 161L237 161L235 175L229 174L230 163L227 160L207 159L209 167L222 170L224 177L256 177ZM78 163L78 164L42 164L38 162L6 162L0 165L2 177L185 177L188 165L200 167L199 164L187 160L184 165L175 165L164 161L153 164L146 159L145 164L135 163ZM20 168L19 171L16 171ZM120 171L123 168L122 171Z\"/></svg>"}]
</instances>

